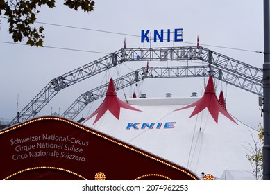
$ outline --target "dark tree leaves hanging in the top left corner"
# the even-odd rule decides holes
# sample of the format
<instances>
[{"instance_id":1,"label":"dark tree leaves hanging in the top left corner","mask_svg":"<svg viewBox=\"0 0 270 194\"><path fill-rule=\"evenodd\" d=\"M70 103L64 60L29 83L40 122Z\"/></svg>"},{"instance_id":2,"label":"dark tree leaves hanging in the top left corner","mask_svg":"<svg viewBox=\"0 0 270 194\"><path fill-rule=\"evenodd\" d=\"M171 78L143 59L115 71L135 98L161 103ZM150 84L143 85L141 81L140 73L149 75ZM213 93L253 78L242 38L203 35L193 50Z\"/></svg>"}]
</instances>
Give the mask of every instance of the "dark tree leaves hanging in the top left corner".
<instances>
[{"instance_id":1,"label":"dark tree leaves hanging in the top left corner","mask_svg":"<svg viewBox=\"0 0 270 194\"><path fill-rule=\"evenodd\" d=\"M0 0L0 15L8 17L9 33L12 35L13 41L22 42L22 39L27 37L26 44L43 46L44 28L42 26L36 28L31 24L35 24L36 15L40 12L37 10L37 6L54 8L55 3L56 0ZM94 1L92 0L64 0L64 5L74 10L81 8L85 12L94 10Z\"/></svg>"}]
</instances>

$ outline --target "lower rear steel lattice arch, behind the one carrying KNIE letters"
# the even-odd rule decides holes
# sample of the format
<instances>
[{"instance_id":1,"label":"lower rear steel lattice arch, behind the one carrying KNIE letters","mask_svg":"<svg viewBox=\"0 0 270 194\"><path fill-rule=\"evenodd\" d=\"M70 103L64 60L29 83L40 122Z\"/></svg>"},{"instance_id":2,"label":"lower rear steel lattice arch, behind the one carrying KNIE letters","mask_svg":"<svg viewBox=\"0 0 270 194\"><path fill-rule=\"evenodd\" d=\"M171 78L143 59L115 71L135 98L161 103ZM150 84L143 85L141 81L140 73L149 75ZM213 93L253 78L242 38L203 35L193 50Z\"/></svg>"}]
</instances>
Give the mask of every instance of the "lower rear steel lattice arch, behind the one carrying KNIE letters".
<instances>
[{"instance_id":1,"label":"lower rear steel lattice arch, behind the one carrying KNIE letters","mask_svg":"<svg viewBox=\"0 0 270 194\"><path fill-rule=\"evenodd\" d=\"M235 76L230 71L224 71L219 67L211 67L212 76L235 87L239 87L258 96L262 96L262 84L244 77ZM140 68L136 71L121 76L114 80L115 90L123 89L140 82L146 78L187 78L208 76L209 66L185 66L185 67L150 67ZM79 96L74 103L61 115L62 117L74 119L91 102L106 95L108 83L96 87Z\"/></svg>"}]
</instances>

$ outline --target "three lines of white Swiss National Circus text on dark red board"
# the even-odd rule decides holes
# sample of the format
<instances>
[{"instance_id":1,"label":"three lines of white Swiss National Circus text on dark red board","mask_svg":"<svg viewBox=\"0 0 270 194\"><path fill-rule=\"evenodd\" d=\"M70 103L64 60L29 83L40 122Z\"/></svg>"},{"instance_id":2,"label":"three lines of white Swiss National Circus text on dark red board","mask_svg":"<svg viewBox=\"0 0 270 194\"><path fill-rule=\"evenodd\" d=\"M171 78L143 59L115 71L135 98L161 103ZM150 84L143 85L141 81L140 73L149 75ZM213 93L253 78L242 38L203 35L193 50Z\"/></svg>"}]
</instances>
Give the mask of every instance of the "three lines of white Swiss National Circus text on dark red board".
<instances>
[{"instance_id":1,"label":"three lines of white Swiss National Circus text on dark red board","mask_svg":"<svg viewBox=\"0 0 270 194\"><path fill-rule=\"evenodd\" d=\"M31 157L60 157L85 161L85 157L82 156L83 148L87 147L89 142L77 139L74 136L42 134L39 136L10 139L10 145L15 146L15 154L12 155L12 160ZM48 151L48 149L53 150Z\"/></svg>"}]
</instances>

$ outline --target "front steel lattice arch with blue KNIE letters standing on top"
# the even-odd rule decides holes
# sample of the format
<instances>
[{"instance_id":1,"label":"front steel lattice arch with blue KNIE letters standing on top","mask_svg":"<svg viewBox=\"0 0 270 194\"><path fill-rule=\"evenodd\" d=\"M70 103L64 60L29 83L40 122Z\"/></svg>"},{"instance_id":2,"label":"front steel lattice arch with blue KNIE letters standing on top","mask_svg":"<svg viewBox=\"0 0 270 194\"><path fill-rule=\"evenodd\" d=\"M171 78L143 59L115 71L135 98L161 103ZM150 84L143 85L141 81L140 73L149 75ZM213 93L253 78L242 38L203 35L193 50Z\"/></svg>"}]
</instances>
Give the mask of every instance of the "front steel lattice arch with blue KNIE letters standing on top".
<instances>
[{"instance_id":1,"label":"front steel lattice arch with blue KNIE letters standing on top","mask_svg":"<svg viewBox=\"0 0 270 194\"><path fill-rule=\"evenodd\" d=\"M24 109L22 109L21 112L19 112L18 116L10 122L10 125L35 117L35 115L40 112L40 110L47 105L47 103L49 103L49 101L56 96L58 91L61 89L74 85L77 82L81 82L81 80L95 76L96 74L115 67L122 62L146 60L203 60L208 62L208 64L211 64L212 67L221 69L223 72L227 71L230 72L230 74L234 74L235 77L239 76L241 79L245 79L246 82L261 82L262 80L261 69L252 67L244 62L228 58L225 55L210 51L201 46L199 49L192 46L168 48L125 48L51 80L49 84L44 87L42 91L40 91L40 93L37 94L37 96L35 96L35 98L33 98L33 100L24 107ZM232 78L230 77L227 79L230 80ZM235 85L237 85L237 81L235 81ZM250 87L250 85L242 84L241 88L245 89L245 87ZM248 90L252 91L252 89ZM258 91L259 90L260 89L258 88Z\"/></svg>"}]
</instances>

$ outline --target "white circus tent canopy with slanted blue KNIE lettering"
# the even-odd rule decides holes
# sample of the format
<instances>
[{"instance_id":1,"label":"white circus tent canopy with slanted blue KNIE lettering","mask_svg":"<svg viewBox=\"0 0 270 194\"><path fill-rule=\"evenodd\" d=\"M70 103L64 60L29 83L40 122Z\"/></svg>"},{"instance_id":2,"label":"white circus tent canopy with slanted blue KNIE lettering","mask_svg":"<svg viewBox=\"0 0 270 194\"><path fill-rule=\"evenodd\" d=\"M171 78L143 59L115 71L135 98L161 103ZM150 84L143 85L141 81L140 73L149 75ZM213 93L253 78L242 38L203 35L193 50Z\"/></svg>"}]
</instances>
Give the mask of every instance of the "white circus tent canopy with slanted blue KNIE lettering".
<instances>
[{"instance_id":1,"label":"white circus tent canopy with slanted blue KNIE lettering","mask_svg":"<svg viewBox=\"0 0 270 194\"><path fill-rule=\"evenodd\" d=\"M107 110L98 121L92 115L83 124L188 168L199 177L203 172L221 179L227 169L251 172L246 153L258 132L220 112L216 122L208 108L190 118L195 107L178 110L196 100L132 98L129 105L140 111L119 107L119 119Z\"/></svg>"}]
</instances>

